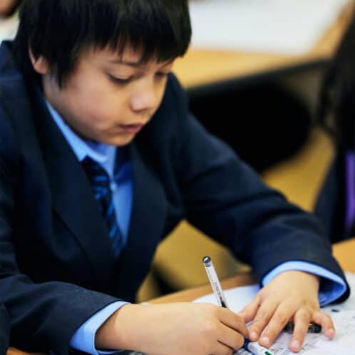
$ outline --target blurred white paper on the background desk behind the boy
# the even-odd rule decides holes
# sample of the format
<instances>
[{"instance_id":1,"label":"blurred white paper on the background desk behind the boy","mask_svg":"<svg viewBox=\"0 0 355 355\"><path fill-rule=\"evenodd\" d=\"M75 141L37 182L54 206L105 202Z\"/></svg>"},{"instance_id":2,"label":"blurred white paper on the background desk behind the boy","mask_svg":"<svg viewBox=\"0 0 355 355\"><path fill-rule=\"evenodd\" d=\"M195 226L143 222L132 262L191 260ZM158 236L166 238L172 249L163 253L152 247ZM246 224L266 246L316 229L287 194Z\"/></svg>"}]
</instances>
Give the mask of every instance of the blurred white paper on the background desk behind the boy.
<instances>
[{"instance_id":1,"label":"blurred white paper on the background desk behind the boy","mask_svg":"<svg viewBox=\"0 0 355 355\"><path fill-rule=\"evenodd\" d=\"M192 0L192 46L267 53L307 53L334 24L348 2Z\"/></svg>"}]
</instances>

